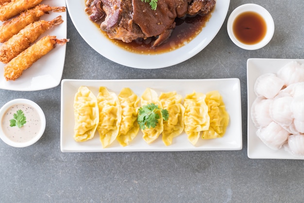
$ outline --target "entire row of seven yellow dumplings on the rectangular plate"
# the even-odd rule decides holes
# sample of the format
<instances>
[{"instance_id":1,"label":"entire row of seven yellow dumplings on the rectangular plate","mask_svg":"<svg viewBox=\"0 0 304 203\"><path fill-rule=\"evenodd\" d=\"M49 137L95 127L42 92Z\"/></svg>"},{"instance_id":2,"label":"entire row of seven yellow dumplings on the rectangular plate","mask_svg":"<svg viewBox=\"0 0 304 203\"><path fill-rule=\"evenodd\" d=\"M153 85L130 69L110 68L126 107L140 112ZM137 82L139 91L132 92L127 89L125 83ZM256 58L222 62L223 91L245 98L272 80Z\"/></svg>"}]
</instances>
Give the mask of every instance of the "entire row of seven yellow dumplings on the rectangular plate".
<instances>
[{"instance_id":1,"label":"entire row of seven yellow dumplings on the rectangular plate","mask_svg":"<svg viewBox=\"0 0 304 203\"><path fill-rule=\"evenodd\" d=\"M138 134L138 103L141 106L154 103L167 109L169 119L160 115L155 128L141 130L143 139L152 143L162 134L166 146L172 144L174 137L185 130L188 140L195 145L202 134L203 139L221 137L229 123L229 114L218 91L193 93L183 97L176 91L157 93L146 88L141 98L130 88L123 88L118 96L100 87L97 97L85 86L81 86L74 99L75 127L74 139L82 142L92 139L97 130L102 147L118 140L121 146L127 146Z\"/></svg>"}]
</instances>

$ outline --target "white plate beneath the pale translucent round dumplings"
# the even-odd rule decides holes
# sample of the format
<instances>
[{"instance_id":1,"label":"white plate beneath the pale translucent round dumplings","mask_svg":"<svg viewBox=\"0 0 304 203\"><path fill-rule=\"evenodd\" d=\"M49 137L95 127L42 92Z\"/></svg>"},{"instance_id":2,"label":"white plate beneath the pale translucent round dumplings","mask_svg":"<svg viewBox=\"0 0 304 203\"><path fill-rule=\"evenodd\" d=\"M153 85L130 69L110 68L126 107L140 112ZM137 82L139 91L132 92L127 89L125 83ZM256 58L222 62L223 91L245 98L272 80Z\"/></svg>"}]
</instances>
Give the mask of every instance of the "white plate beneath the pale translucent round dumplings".
<instances>
[{"instance_id":1,"label":"white plate beneath the pale translucent round dumplings","mask_svg":"<svg viewBox=\"0 0 304 203\"><path fill-rule=\"evenodd\" d=\"M260 59L251 58L247 60L247 93L248 93L248 157L252 159L299 159L292 156L283 148L271 150L257 136L257 128L251 119L251 106L256 98L253 87L256 79L264 73L276 73L280 68L291 61L304 63L304 59Z\"/></svg>"}]
</instances>

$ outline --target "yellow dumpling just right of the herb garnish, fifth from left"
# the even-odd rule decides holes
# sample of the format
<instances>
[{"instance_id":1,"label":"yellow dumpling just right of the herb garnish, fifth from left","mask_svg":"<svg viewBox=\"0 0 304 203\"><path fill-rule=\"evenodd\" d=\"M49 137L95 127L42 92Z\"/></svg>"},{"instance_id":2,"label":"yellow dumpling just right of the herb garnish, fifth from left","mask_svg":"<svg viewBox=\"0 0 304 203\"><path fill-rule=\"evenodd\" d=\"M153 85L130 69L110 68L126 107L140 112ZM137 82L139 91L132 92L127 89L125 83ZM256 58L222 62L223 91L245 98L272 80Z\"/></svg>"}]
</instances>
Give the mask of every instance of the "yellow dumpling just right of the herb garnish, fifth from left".
<instances>
[{"instance_id":1,"label":"yellow dumpling just right of the herb garnish, fifth from left","mask_svg":"<svg viewBox=\"0 0 304 203\"><path fill-rule=\"evenodd\" d=\"M164 130L162 140L166 146L172 144L174 137L180 135L184 131L184 113L185 107L182 105L183 97L175 91L162 93L159 96L163 108L169 112L169 119L164 120Z\"/></svg>"}]
</instances>

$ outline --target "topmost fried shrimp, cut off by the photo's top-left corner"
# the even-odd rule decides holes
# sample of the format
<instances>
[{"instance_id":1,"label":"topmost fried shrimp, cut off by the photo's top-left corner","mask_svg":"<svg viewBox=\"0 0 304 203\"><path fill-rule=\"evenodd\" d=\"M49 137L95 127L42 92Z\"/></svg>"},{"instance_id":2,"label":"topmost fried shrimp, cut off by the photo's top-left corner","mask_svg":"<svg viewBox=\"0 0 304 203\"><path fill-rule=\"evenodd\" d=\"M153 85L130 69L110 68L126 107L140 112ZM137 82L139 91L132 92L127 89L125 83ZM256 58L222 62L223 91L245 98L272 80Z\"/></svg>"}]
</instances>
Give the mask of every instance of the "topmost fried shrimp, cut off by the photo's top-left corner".
<instances>
[{"instance_id":1,"label":"topmost fried shrimp, cut off by the photo's top-left corner","mask_svg":"<svg viewBox=\"0 0 304 203\"><path fill-rule=\"evenodd\" d=\"M12 0L0 7L0 21L8 20L41 3L42 0Z\"/></svg>"}]
</instances>

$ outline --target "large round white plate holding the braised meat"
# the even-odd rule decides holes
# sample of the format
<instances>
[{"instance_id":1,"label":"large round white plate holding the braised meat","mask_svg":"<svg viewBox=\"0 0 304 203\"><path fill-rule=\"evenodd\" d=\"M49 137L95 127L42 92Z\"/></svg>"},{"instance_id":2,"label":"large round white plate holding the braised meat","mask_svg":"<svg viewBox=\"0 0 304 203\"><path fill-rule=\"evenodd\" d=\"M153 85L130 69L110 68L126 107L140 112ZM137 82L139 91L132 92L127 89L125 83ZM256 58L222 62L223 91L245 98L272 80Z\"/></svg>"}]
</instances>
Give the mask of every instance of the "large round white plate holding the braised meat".
<instances>
[{"instance_id":1,"label":"large round white plate holding the braised meat","mask_svg":"<svg viewBox=\"0 0 304 203\"><path fill-rule=\"evenodd\" d=\"M211 18L202 32L185 46L157 55L125 51L113 44L84 12L85 0L66 0L68 12L79 34L98 53L118 64L142 69L165 68L186 61L202 51L218 34L228 12L230 0L217 0Z\"/></svg>"}]
</instances>

